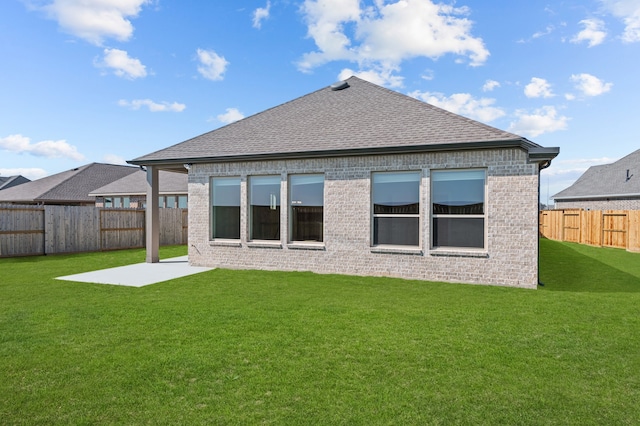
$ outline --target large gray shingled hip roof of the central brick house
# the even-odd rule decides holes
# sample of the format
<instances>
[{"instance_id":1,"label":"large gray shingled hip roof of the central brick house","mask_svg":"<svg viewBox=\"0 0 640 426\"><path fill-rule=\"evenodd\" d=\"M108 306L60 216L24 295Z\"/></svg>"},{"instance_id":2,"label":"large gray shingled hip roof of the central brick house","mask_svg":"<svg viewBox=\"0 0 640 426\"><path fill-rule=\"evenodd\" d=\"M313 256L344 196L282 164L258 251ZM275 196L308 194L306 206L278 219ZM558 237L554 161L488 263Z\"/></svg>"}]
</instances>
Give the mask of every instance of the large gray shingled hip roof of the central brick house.
<instances>
[{"instance_id":1,"label":"large gray shingled hip roof of the central brick house","mask_svg":"<svg viewBox=\"0 0 640 426\"><path fill-rule=\"evenodd\" d=\"M551 160L558 148L351 77L177 145L137 165L312 158L517 146ZM340 83L336 83L340 84Z\"/></svg>"}]
</instances>

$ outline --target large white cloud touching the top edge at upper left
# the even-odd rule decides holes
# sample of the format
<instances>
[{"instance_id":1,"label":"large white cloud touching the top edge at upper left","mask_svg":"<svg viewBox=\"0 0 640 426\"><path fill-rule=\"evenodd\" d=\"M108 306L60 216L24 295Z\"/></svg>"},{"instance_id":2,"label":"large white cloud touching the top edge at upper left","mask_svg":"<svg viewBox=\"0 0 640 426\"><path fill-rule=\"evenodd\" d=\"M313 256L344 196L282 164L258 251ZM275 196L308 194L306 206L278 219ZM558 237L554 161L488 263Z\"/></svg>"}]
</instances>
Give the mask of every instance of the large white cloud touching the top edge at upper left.
<instances>
[{"instance_id":1,"label":"large white cloud touching the top edge at upper left","mask_svg":"<svg viewBox=\"0 0 640 426\"><path fill-rule=\"evenodd\" d=\"M152 0L46 0L35 6L58 22L63 31L95 45L106 38L127 41L133 34L130 18Z\"/></svg>"}]
</instances>

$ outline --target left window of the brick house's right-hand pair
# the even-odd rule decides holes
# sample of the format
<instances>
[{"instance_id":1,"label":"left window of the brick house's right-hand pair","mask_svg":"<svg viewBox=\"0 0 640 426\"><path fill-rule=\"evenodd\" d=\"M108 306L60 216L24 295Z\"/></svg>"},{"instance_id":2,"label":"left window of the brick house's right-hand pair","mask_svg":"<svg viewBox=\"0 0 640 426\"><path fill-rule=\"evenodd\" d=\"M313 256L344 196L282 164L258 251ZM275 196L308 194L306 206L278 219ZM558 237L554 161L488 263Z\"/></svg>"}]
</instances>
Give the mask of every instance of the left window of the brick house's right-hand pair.
<instances>
[{"instance_id":1,"label":"left window of the brick house's right-hand pair","mask_svg":"<svg viewBox=\"0 0 640 426\"><path fill-rule=\"evenodd\" d=\"M420 172L372 176L373 245L420 245Z\"/></svg>"}]
</instances>

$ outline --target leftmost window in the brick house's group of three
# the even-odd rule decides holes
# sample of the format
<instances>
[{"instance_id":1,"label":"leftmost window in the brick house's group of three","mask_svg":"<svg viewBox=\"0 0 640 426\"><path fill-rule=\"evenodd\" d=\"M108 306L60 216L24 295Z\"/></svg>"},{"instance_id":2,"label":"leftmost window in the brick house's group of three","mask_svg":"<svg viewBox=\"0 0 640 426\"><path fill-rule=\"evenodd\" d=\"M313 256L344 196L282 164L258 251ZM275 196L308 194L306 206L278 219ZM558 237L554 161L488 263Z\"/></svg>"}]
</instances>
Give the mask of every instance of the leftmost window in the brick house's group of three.
<instances>
[{"instance_id":1,"label":"leftmost window in the brick house's group of three","mask_svg":"<svg viewBox=\"0 0 640 426\"><path fill-rule=\"evenodd\" d=\"M240 239L240 178L211 179L211 238Z\"/></svg>"}]
</instances>

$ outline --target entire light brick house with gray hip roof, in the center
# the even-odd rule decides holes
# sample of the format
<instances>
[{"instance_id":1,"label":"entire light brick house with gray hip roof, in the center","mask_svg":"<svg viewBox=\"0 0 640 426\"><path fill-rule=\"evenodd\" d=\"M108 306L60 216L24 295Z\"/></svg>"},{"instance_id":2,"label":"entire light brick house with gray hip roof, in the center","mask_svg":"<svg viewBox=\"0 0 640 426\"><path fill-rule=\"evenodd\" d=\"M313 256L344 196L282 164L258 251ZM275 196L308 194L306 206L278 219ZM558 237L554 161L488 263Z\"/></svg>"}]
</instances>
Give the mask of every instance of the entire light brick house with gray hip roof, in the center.
<instances>
[{"instance_id":1,"label":"entire light brick house with gray hip roof, in the center","mask_svg":"<svg viewBox=\"0 0 640 426\"><path fill-rule=\"evenodd\" d=\"M535 288L558 152L351 77L129 163L188 170L192 265Z\"/></svg>"}]
</instances>

